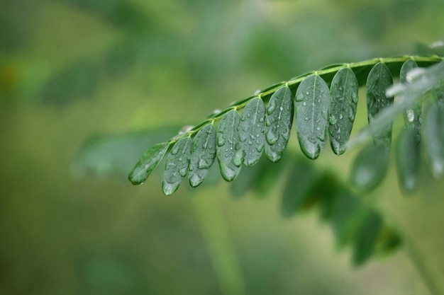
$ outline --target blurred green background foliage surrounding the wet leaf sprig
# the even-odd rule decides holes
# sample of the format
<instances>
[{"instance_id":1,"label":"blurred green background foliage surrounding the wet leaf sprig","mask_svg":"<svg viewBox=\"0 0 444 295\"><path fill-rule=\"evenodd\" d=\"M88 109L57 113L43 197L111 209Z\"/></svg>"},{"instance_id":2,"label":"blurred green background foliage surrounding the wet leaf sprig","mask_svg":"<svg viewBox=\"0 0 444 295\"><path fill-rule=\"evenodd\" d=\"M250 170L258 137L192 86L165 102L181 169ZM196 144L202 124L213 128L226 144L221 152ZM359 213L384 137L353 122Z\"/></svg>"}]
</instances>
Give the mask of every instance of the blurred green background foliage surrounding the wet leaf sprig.
<instances>
[{"instance_id":1,"label":"blurred green background foliage surrounding the wet leaf sprig","mask_svg":"<svg viewBox=\"0 0 444 295\"><path fill-rule=\"evenodd\" d=\"M326 224L323 202L309 195L294 215L281 198L285 179L311 177L292 171L294 163L313 175L315 196L326 197L332 181L347 187L355 150L338 158L326 149L308 162L293 136L281 163L261 168L276 171L267 178L244 169L225 183L216 170L202 187L184 183L173 197L162 196L158 171L140 187L126 179L148 146L258 88L331 63L427 53L422 44L444 35L443 1L0 0L0 7L0 294L444 290L444 185L429 175L409 198L393 165L370 195L345 194L345 208L372 216L355 232L361 245L368 236L360 233L382 221L405 239L401 250L359 268L352 261L362 258L341 247L334 222L333 231ZM355 131L367 120L362 97ZM306 189L293 183L296 193Z\"/></svg>"}]
</instances>

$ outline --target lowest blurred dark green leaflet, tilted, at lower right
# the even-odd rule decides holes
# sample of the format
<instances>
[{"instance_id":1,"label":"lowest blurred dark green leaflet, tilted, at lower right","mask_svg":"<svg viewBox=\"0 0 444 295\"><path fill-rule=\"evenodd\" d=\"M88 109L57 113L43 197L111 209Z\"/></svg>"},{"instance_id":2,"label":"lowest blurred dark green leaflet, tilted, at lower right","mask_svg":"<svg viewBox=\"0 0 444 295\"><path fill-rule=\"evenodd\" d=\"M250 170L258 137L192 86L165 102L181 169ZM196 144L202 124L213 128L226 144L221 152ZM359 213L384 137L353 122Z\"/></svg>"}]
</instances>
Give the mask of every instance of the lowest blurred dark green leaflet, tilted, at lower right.
<instances>
[{"instance_id":1,"label":"lowest blurred dark green leaflet, tilted, at lower right","mask_svg":"<svg viewBox=\"0 0 444 295\"><path fill-rule=\"evenodd\" d=\"M383 226L384 223L381 215L371 211L370 215L367 216L362 223L362 226L357 231L353 248L353 263L355 263L355 265L362 265L372 257Z\"/></svg>"}]
</instances>

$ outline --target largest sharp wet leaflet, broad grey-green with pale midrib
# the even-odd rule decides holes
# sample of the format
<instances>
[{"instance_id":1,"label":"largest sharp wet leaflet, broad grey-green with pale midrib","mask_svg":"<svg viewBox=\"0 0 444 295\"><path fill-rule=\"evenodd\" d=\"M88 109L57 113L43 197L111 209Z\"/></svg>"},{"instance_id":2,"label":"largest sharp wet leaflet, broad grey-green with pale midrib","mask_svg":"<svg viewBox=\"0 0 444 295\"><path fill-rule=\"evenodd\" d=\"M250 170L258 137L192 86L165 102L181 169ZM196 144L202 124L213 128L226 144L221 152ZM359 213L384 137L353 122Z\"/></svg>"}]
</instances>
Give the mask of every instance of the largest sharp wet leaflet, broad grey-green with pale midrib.
<instances>
[{"instance_id":1,"label":"largest sharp wet leaflet, broad grey-green with pale midrib","mask_svg":"<svg viewBox=\"0 0 444 295\"><path fill-rule=\"evenodd\" d=\"M296 91L296 132L309 158L317 158L326 143L330 100L328 86L318 74L306 77Z\"/></svg>"}]
</instances>

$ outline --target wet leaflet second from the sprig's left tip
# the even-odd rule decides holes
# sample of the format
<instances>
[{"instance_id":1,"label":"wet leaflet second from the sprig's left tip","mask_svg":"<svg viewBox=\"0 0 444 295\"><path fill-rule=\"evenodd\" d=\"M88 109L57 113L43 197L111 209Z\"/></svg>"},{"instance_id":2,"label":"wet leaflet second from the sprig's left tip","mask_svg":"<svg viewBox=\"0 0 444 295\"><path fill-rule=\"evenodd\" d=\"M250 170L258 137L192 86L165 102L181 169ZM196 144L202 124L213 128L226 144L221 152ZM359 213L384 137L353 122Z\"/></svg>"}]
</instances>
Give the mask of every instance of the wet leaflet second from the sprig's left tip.
<instances>
[{"instance_id":1,"label":"wet leaflet second from the sprig's left tip","mask_svg":"<svg viewBox=\"0 0 444 295\"><path fill-rule=\"evenodd\" d=\"M182 179L187 175L191 154L191 137L179 139L172 147L163 172L162 192L165 195L171 195L179 188Z\"/></svg>"}]
</instances>

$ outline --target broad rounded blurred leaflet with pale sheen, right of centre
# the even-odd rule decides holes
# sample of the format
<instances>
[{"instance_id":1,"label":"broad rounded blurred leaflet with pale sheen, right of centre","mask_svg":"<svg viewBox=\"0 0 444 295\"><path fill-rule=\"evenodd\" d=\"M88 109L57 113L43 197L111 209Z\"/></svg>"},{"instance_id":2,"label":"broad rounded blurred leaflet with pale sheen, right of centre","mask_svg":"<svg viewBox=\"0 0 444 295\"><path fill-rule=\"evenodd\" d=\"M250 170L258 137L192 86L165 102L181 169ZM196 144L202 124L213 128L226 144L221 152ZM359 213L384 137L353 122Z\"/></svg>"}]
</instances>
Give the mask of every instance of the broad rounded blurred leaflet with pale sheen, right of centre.
<instances>
[{"instance_id":1,"label":"broad rounded blurred leaflet with pale sheen, right of centre","mask_svg":"<svg viewBox=\"0 0 444 295\"><path fill-rule=\"evenodd\" d=\"M355 189L368 192L384 180L389 167L390 149L385 144L373 144L357 154L350 182Z\"/></svg>"}]
</instances>

